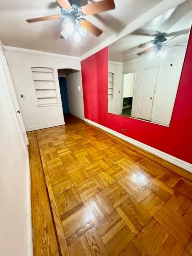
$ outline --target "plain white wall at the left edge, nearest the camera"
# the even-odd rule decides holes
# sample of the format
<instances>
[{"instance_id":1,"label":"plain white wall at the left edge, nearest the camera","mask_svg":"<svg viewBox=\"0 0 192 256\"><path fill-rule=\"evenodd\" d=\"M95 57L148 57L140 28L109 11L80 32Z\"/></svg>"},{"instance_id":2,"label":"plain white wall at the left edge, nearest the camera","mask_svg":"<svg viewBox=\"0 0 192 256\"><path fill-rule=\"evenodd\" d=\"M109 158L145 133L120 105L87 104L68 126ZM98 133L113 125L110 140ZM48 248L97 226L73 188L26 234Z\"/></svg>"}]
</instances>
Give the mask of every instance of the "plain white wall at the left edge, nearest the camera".
<instances>
[{"instance_id":1,"label":"plain white wall at the left edge, nearest the camera","mask_svg":"<svg viewBox=\"0 0 192 256\"><path fill-rule=\"evenodd\" d=\"M4 256L30 255L29 165L18 127L0 60L0 255Z\"/></svg>"}]
</instances>

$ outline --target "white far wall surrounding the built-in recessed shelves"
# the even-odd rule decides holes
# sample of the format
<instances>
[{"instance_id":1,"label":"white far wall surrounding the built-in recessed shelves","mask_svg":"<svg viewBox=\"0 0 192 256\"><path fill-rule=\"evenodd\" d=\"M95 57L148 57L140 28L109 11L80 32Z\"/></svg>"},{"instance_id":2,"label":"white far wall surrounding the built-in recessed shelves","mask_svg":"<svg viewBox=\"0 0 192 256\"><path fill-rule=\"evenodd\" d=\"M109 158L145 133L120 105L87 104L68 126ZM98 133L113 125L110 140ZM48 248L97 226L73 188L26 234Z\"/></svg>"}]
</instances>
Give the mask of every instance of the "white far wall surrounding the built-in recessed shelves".
<instances>
[{"instance_id":1,"label":"white far wall surrounding the built-in recessed shelves","mask_svg":"<svg viewBox=\"0 0 192 256\"><path fill-rule=\"evenodd\" d=\"M76 57L58 56L57 54L42 54L38 51L19 52L19 48L6 50L6 57L16 88L16 94L22 111L26 130L38 130L64 124L61 104L58 69L72 68L81 70L80 60ZM54 80L58 104L54 106L38 107L32 67L46 67L54 69ZM21 99L20 94L25 98Z\"/></svg>"}]
</instances>

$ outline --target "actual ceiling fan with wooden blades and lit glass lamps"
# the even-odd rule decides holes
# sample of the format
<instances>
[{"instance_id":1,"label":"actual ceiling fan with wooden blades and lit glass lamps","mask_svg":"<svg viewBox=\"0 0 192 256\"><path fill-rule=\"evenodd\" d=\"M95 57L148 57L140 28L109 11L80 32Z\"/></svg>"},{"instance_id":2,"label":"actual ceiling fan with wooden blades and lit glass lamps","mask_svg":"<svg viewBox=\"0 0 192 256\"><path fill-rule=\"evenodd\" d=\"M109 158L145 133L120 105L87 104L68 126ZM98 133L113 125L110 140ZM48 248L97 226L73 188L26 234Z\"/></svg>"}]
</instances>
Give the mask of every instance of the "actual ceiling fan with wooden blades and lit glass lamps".
<instances>
[{"instance_id":1,"label":"actual ceiling fan with wooden blades and lit glass lamps","mask_svg":"<svg viewBox=\"0 0 192 256\"><path fill-rule=\"evenodd\" d=\"M62 38L67 39L69 34L74 33L76 42L81 40L81 36L86 36L87 30L95 36L100 36L102 30L97 28L94 24L85 19L86 15L93 15L99 12L105 12L115 8L114 0L102 0L85 6L80 6L80 1L70 0L56 0L61 7L61 14L34 18L26 20L27 22L37 22L42 20L64 19L67 18L65 29L61 32ZM75 3L74 3L75 2ZM80 36L81 35L81 36Z\"/></svg>"}]
</instances>

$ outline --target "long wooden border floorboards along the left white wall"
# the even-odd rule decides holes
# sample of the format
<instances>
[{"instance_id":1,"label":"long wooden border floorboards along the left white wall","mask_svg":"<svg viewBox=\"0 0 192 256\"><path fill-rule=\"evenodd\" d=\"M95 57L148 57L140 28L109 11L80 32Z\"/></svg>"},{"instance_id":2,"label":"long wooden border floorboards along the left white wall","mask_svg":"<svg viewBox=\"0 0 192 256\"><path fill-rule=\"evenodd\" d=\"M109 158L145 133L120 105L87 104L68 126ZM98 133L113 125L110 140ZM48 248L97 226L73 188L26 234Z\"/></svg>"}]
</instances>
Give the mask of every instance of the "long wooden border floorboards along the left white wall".
<instances>
[{"instance_id":1,"label":"long wooden border floorboards along the left white wall","mask_svg":"<svg viewBox=\"0 0 192 256\"><path fill-rule=\"evenodd\" d=\"M31 172L33 254L34 256L56 256L59 255L59 250L46 191L36 133L28 132L28 139Z\"/></svg>"}]
</instances>

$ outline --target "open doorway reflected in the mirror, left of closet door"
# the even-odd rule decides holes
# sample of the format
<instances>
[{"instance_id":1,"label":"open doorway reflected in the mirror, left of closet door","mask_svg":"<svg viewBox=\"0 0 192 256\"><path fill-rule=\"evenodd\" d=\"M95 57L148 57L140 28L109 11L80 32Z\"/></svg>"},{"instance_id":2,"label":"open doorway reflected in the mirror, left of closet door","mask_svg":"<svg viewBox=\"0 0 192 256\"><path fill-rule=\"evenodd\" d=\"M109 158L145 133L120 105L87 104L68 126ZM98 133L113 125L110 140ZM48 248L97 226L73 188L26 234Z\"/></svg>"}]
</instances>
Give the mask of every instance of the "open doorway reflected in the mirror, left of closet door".
<instances>
[{"instance_id":1,"label":"open doorway reflected in the mirror, left of closet door","mask_svg":"<svg viewBox=\"0 0 192 256\"><path fill-rule=\"evenodd\" d=\"M122 115L131 116L134 94L135 72L123 74Z\"/></svg>"}]
</instances>

